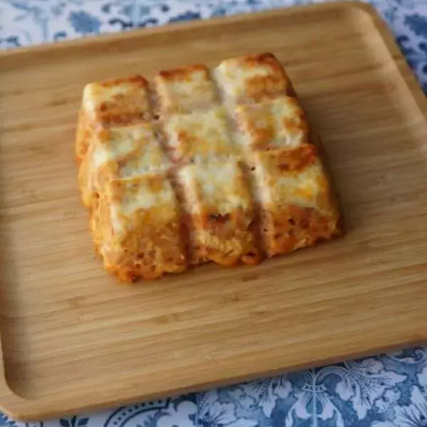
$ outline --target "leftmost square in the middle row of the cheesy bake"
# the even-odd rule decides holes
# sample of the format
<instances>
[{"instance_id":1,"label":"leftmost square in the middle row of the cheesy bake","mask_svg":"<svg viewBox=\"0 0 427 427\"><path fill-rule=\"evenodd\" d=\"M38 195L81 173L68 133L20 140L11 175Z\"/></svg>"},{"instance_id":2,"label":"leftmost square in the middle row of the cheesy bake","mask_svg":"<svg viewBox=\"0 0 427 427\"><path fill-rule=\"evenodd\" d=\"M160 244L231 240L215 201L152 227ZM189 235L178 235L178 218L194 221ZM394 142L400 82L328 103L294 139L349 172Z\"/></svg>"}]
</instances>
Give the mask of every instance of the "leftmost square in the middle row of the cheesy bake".
<instances>
[{"instance_id":1,"label":"leftmost square in the middle row of the cheesy bake","mask_svg":"<svg viewBox=\"0 0 427 427\"><path fill-rule=\"evenodd\" d=\"M93 193L109 179L133 178L166 172L169 161L152 125L144 123L109 127L93 132L88 155L80 164L79 185L83 203L90 206Z\"/></svg>"}]
</instances>

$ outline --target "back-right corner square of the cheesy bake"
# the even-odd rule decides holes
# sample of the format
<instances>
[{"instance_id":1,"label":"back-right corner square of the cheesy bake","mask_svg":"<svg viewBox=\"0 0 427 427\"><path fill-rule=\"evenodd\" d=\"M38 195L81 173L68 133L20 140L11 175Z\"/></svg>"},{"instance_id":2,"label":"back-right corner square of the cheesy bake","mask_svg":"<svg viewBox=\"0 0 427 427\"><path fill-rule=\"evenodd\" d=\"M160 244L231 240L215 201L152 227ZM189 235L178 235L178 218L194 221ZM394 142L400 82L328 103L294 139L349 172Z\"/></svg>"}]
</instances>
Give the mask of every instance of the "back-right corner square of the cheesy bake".
<instances>
[{"instance_id":1,"label":"back-right corner square of the cheesy bake","mask_svg":"<svg viewBox=\"0 0 427 427\"><path fill-rule=\"evenodd\" d=\"M224 60L215 76L226 100L236 104L293 93L285 70L271 53Z\"/></svg>"}]
</instances>

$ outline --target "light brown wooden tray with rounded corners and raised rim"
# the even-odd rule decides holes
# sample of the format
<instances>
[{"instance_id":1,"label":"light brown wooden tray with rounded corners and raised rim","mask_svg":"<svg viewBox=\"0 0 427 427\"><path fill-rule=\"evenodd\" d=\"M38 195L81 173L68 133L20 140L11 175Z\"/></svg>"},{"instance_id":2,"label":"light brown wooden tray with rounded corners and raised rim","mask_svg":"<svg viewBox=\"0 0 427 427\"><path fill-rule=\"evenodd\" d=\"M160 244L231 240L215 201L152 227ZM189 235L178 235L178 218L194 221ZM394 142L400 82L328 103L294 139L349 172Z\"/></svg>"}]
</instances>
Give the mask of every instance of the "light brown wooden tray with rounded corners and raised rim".
<instances>
[{"instance_id":1,"label":"light brown wooden tray with rounded corners and raised rim","mask_svg":"<svg viewBox=\"0 0 427 427\"><path fill-rule=\"evenodd\" d=\"M329 153L348 232L135 287L95 260L73 144L93 80L272 51ZM427 342L427 102L376 13L322 4L0 55L0 406L114 406Z\"/></svg>"}]
</instances>

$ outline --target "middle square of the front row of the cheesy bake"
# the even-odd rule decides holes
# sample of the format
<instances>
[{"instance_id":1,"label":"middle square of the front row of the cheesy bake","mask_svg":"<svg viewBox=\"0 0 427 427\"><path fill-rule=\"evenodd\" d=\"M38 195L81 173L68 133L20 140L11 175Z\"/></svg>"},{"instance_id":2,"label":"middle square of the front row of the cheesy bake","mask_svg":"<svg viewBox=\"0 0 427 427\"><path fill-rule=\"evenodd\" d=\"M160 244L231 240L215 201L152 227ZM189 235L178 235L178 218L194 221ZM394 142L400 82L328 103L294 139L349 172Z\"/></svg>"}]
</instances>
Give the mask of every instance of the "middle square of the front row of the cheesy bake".
<instances>
[{"instance_id":1,"label":"middle square of the front row of the cheesy bake","mask_svg":"<svg viewBox=\"0 0 427 427\"><path fill-rule=\"evenodd\" d=\"M179 182L187 212L191 263L255 264L255 213L243 169L238 162L186 165Z\"/></svg>"}]
</instances>

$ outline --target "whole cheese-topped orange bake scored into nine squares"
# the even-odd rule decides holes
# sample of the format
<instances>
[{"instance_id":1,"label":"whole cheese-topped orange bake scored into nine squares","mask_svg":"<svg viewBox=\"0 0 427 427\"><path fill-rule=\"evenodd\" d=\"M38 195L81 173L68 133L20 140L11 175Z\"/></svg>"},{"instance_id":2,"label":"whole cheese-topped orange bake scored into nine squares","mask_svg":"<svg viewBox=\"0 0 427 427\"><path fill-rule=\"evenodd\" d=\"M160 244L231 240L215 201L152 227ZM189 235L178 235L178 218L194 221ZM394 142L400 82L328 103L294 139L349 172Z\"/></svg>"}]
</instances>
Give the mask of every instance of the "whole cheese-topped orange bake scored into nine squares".
<instances>
[{"instance_id":1,"label":"whole cheese-topped orange bake scored into nine squares","mask_svg":"<svg viewBox=\"0 0 427 427\"><path fill-rule=\"evenodd\" d=\"M90 83L76 158L95 251L133 282L341 233L322 147L271 53Z\"/></svg>"}]
</instances>

